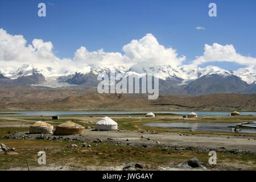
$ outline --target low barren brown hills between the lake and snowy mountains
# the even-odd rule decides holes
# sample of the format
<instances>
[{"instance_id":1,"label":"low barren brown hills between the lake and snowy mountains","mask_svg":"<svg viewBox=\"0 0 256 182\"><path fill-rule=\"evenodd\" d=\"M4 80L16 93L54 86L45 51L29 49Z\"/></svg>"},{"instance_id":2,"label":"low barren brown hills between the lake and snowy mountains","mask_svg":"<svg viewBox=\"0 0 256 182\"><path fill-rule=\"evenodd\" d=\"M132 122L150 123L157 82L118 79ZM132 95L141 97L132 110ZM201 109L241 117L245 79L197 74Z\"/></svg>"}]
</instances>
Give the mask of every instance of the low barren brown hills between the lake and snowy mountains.
<instances>
[{"instance_id":1,"label":"low barren brown hills between the lake and snowy mountains","mask_svg":"<svg viewBox=\"0 0 256 182\"><path fill-rule=\"evenodd\" d=\"M159 96L158 100L147 100L141 95L85 93L81 90L40 89L35 92L28 89L14 93L14 98L5 93L9 100L3 95L0 97L1 110L256 110L256 94Z\"/></svg>"}]
</instances>

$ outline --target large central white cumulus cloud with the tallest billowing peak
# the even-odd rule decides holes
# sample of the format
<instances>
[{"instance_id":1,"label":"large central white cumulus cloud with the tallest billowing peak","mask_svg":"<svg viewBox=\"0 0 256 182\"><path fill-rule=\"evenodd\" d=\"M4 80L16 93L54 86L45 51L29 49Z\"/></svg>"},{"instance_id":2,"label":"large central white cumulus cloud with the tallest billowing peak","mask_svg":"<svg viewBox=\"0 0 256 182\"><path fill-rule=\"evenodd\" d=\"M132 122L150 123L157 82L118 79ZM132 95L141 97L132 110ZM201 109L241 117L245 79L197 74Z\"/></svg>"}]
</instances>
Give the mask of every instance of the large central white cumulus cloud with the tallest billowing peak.
<instances>
[{"instance_id":1,"label":"large central white cumulus cloud with the tallest billowing peak","mask_svg":"<svg viewBox=\"0 0 256 182\"><path fill-rule=\"evenodd\" d=\"M147 34L142 39L132 40L123 46L122 55L119 52L105 52L103 49L89 52L85 47L80 47L75 52L74 61L80 64L171 64L174 67L181 65L185 56L178 57L176 50L165 48L158 43L152 34Z\"/></svg>"}]
</instances>

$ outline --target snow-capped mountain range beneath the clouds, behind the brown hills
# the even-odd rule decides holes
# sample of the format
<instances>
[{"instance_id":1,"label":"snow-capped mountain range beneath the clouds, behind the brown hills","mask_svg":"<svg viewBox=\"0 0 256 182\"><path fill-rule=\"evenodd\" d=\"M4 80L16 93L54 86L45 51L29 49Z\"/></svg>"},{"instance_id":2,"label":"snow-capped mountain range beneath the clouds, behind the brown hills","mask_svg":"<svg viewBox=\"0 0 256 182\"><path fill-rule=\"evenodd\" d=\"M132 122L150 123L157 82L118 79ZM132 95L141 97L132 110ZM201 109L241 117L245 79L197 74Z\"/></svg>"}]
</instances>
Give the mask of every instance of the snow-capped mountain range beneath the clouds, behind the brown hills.
<instances>
[{"instance_id":1,"label":"snow-capped mountain range beneath the clouds, behind the brown hills","mask_svg":"<svg viewBox=\"0 0 256 182\"><path fill-rule=\"evenodd\" d=\"M31 64L23 64L14 73L0 69L0 85L96 88L98 75L122 73L126 77L141 77L146 73L154 73L159 78L160 93L192 95L256 93L256 68L253 66L229 71L215 66L195 68L149 64L136 64L131 67L87 65L79 71L66 71L59 75L55 73L54 68L36 68Z\"/></svg>"}]
</instances>

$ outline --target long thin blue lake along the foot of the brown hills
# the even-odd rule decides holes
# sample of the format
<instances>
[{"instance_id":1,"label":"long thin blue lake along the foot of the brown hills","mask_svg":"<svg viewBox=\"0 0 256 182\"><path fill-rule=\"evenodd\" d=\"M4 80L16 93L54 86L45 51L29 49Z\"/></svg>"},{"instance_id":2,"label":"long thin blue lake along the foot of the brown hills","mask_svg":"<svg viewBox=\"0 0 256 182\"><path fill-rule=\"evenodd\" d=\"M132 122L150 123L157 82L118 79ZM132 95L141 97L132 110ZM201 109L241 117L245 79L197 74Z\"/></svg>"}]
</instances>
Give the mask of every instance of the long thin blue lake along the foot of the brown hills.
<instances>
[{"instance_id":1,"label":"long thin blue lake along the foot of the brown hills","mask_svg":"<svg viewBox=\"0 0 256 182\"><path fill-rule=\"evenodd\" d=\"M1 111L0 113L14 113L6 115L30 115L30 116L52 116L52 115L111 115L111 114L146 114L149 111ZM187 115L190 111L154 111L155 114L180 114ZM198 116L227 116L230 112L218 112L218 111L197 111ZM256 112L240 112L241 115L254 115Z\"/></svg>"}]
</instances>

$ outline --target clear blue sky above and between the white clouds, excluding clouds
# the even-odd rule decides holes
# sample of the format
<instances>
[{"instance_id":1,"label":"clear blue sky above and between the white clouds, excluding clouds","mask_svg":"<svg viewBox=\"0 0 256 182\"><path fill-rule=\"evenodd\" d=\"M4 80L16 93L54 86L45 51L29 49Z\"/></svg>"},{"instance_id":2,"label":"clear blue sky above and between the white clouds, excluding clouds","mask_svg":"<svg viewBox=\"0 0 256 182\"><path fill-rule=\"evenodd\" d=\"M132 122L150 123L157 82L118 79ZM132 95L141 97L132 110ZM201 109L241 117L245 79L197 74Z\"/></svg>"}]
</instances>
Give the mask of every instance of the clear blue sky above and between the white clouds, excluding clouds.
<instances>
[{"instance_id":1,"label":"clear blue sky above and between the white clouds, excluding clouds","mask_svg":"<svg viewBox=\"0 0 256 182\"><path fill-rule=\"evenodd\" d=\"M47 17L39 18L38 3L47 5ZM217 17L208 16L210 2L217 4ZM0 28L11 35L51 41L58 57L73 57L81 46L89 51L104 48L122 52L132 39L151 33L165 47L172 47L187 62L203 55L204 45L233 44L243 56L256 57L256 1L0 1ZM196 27L206 30L196 30ZM206 63L222 68L237 63Z\"/></svg>"}]
</instances>

